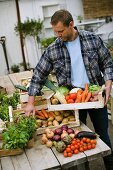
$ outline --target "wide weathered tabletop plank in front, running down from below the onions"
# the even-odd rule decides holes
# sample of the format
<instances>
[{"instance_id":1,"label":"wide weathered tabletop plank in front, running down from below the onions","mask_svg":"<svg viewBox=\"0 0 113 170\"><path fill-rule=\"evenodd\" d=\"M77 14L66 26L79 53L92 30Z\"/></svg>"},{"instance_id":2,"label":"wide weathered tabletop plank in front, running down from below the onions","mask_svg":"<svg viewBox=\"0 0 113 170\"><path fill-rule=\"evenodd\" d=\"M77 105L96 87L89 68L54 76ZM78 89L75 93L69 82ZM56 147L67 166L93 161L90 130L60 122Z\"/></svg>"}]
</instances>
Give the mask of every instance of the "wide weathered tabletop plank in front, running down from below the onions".
<instances>
[{"instance_id":1,"label":"wide weathered tabletop plank in front, running down from below the onions","mask_svg":"<svg viewBox=\"0 0 113 170\"><path fill-rule=\"evenodd\" d=\"M52 150L45 145L41 145L40 137L37 137L35 146L31 149L26 149L26 155L30 162L32 170L45 170L45 169L60 169L60 164L54 156Z\"/></svg>"}]
</instances>

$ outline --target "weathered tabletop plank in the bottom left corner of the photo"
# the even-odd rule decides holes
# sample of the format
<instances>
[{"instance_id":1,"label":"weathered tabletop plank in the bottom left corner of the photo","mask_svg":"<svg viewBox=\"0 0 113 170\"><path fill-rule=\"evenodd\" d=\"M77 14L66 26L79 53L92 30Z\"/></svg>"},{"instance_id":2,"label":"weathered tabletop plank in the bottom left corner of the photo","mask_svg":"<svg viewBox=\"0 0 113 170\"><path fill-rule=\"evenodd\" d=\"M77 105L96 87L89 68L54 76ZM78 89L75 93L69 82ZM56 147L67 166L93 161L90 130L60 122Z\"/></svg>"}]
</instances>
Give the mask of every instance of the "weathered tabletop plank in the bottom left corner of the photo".
<instances>
[{"instance_id":1,"label":"weathered tabletop plank in the bottom left corner of the photo","mask_svg":"<svg viewBox=\"0 0 113 170\"><path fill-rule=\"evenodd\" d=\"M11 157L2 157L1 159L1 167L3 170L15 170Z\"/></svg>"}]
</instances>

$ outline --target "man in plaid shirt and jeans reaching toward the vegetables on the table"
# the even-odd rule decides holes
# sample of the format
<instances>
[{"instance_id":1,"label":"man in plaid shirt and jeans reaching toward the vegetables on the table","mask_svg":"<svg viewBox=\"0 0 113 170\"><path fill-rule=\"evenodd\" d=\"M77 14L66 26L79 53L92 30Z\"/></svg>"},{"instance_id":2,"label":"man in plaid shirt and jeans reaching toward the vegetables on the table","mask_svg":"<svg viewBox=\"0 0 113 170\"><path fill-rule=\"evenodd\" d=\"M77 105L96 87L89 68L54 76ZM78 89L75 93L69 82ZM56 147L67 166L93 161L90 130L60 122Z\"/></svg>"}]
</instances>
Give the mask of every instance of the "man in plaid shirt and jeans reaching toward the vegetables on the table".
<instances>
[{"instance_id":1,"label":"man in plaid shirt and jeans reaching toward the vegetables on the table","mask_svg":"<svg viewBox=\"0 0 113 170\"><path fill-rule=\"evenodd\" d=\"M40 92L48 74L54 69L58 85L84 88L85 83L105 84L105 107L102 109L80 110L80 120L86 123L87 112L95 132L111 147L108 136L108 102L113 80L113 62L108 49L100 37L74 28L72 15L66 10L56 11L51 25L57 39L44 51L37 64L29 87L26 114L35 112L35 95Z\"/></svg>"}]
</instances>

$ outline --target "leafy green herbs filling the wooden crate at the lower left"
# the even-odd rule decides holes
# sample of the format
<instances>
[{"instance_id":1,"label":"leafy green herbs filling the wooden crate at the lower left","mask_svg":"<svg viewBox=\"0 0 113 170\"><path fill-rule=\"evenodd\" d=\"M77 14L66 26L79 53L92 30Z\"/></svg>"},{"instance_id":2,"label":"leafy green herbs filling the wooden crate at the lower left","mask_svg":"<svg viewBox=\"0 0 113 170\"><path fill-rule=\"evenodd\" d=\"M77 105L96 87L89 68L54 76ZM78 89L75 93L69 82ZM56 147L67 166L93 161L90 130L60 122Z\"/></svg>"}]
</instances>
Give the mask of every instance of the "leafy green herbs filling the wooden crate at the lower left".
<instances>
[{"instance_id":1,"label":"leafy green herbs filling the wooden crate at the lower left","mask_svg":"<svg viewBox=\"0 0 113 170\"><path fill-rule=\"evenodd\" d=\"M3 132L3 148L24 148L28 141L33 137L35 130L35 117L20 116L18 122L9 124L6 131Z\"/></svg>"}]
</instances>

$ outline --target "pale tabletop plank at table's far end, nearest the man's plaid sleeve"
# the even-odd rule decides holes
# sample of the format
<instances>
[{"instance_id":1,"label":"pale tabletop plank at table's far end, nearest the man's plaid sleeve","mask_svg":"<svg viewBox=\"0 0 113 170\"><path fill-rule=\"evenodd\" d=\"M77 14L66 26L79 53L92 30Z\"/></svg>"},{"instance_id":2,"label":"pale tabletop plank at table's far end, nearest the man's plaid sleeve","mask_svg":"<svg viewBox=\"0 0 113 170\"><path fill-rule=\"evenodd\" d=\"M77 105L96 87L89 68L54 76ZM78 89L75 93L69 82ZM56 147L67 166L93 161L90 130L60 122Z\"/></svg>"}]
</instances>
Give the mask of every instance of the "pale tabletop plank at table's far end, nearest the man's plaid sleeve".
<instances>
[{"instance_id":1,"label":"pale tabletop plank at table's far end, nearest the man's plaid sleeve","mask_svg":"<svg viewBox=\"0 0 113 170\"><path fill-rule=\"evenodd\" d=\"M24 71L8 75L14 85L21 84L21 79L32 77L32 71Z\"/></svg>"}]
</instances>

